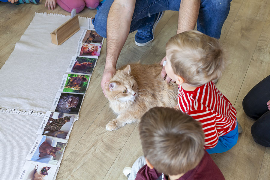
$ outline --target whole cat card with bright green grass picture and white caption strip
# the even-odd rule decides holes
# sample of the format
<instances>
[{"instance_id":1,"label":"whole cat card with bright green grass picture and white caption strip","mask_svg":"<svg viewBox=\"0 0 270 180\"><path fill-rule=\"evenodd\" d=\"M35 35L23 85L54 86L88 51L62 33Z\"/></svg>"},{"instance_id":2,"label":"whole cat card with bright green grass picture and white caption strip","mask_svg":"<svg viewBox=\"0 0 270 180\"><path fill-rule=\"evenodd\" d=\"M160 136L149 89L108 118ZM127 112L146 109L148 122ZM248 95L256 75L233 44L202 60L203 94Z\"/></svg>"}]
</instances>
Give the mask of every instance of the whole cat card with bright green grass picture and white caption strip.
<instances>
[{"instance_id":1,"label":"whole cat card with bright green grass picture and white caption strip","mask_svg":"<svg viewBox=\"0 0 270 180\"><path fill-rule=\"evenodd\" d=\"M85 94L88 82L89 75L64 74L58 91Z\"/></svg>"}]
</instances>

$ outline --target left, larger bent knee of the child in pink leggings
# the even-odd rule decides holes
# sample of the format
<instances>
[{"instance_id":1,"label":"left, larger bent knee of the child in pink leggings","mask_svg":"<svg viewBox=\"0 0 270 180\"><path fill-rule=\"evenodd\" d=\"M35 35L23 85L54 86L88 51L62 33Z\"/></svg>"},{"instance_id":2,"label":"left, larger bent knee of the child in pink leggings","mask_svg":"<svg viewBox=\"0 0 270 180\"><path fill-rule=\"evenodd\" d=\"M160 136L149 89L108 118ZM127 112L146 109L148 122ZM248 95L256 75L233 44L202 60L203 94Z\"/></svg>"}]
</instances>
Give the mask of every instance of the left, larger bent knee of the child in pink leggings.
<instances>
[{"instance_id":1,"label":"left, larger bent knee of the child in pink leggings","mask_svg":"<svg viewBox=\"0 0 270 180\"><path fill-rule=\"evenodd\" d=\"M57 4L70 13L72 9L76 9L76 13L79 13L85 6L85 2L83 0L57 0Z\"/></svg>"}]
</instances>

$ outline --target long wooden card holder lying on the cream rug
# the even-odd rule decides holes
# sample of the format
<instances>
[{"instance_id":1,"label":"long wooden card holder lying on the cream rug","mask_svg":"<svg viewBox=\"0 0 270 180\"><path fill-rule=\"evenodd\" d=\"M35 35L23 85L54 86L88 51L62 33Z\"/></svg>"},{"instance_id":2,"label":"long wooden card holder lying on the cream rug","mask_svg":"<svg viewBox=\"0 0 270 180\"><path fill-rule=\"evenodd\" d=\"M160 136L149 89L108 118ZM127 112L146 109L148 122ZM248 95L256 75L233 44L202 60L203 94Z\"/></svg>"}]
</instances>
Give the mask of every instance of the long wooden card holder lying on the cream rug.
<instances>
[{"instance_id":1,"label":"long wooden card holder lying on the cream rug","mask_svg":"<svg viewBox=\"0 0 270 180\"><path fill-rule=\"evenodd\" d=\"M51 33L52 43L61 45L79 30L79 17L76 15Z\"/></svg>"}]
</instances>

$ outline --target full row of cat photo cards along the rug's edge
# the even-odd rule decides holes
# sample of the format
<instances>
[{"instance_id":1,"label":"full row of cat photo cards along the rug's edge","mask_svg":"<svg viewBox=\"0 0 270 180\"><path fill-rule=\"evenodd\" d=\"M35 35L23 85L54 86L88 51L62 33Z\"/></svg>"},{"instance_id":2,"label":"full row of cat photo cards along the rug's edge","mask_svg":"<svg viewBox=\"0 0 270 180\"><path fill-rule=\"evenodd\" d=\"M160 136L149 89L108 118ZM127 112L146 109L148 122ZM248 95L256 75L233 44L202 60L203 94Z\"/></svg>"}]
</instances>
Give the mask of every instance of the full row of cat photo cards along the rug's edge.
<instances>
[{"instance_id":1,"label":"full row of cat photo cards along the rug's edge","mask_svg":"<svg viewBox=\"0 0 270 180\"><path fill-rule=\"evenodd\" d=\"M88 30L83 29L79 37L75 56L63 75L50 111L41 122L18 180L52 180L56 176L104 40L95 32L91 19L88 18Z\"/></svg>"}]
</instances>

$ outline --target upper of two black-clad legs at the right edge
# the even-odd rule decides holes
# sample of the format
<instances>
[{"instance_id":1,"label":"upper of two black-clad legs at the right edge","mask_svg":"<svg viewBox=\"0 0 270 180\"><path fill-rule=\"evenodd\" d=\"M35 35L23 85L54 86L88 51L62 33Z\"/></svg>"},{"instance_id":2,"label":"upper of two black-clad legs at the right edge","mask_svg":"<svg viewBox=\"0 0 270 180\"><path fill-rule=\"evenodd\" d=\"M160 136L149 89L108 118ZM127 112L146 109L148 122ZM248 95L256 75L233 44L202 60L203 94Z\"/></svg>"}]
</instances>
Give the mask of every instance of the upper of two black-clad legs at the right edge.
<instances>
[{"instance_id":1,"label":"upper of two black-clad legs at the right edge","mask_svg":"<svg viewBox=\"0 0 270 180\"><path fill-rule=\"evenodd\" d=\"M243 110L253 119L259 119L268 110L267 102L270 100L270 75L255 85L244 97ZM270 130L270 129L269 129Z\"/></svg>"}]
</instances>

